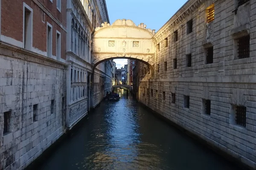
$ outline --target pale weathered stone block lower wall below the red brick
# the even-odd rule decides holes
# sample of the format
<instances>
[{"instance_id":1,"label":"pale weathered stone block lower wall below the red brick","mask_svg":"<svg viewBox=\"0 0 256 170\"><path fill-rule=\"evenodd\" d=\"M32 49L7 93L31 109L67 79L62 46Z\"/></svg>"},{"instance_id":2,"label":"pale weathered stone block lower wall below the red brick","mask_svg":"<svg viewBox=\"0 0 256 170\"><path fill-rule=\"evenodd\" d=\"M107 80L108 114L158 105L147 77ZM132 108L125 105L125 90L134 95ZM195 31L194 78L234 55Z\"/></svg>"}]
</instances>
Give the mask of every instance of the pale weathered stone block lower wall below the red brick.
<instances>
[{"instance_id":1,"label":"pale weathered stone block lower wall below the red brick","mask_svg":"<svg viewBox=\"0 0 256 170\"><path fill-rule=\"evenodd\" d=\"M0 51L0 169L23 169L64 133L66 66Z\"/></svg>"}]
</instances>

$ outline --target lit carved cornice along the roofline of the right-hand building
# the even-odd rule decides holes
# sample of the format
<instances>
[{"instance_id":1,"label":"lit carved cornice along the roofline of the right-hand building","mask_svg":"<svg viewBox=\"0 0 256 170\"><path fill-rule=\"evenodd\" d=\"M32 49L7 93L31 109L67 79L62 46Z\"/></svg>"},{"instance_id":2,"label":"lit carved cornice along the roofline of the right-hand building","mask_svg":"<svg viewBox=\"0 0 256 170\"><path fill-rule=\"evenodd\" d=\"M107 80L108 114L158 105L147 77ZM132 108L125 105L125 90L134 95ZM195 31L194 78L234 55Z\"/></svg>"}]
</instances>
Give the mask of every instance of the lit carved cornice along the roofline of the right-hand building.
<instances>
[{"instance_id":1,"label":"lit carved cornice along the roofline of the right-hand building","mask_svg":"<svg viewBox=\"0 0 256 170\"><path fill-rule=\"evenodd\" d=\"M165 39L186 17L192 15L205 0L188 0L154 35L155 44Z\"/></svg>"}]
</instances>

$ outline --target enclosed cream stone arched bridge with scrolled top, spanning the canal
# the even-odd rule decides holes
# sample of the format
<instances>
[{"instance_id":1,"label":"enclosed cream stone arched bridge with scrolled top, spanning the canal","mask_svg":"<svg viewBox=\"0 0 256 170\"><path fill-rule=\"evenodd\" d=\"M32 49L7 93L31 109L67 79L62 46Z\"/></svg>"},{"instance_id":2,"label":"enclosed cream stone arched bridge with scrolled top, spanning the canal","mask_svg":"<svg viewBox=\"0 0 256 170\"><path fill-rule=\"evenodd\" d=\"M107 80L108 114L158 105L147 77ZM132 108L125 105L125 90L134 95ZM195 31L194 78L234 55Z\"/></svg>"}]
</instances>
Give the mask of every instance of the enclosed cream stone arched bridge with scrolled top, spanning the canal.
<instances>
[{"instance_id":1,"label":"enclosed cream stone arched bridge with scrolled top, spanning the canal","mask_svg":"<svg viewBox=\"0 0 256 170\"><path fill-rule=\"evenodd\" d=\"M132 20L102 23L92 36L93 68L109 59L135 59L148 65L154 74L154 34L155 30L147 29L144 23L136 26Z\"/></svg>"}]
</instances>

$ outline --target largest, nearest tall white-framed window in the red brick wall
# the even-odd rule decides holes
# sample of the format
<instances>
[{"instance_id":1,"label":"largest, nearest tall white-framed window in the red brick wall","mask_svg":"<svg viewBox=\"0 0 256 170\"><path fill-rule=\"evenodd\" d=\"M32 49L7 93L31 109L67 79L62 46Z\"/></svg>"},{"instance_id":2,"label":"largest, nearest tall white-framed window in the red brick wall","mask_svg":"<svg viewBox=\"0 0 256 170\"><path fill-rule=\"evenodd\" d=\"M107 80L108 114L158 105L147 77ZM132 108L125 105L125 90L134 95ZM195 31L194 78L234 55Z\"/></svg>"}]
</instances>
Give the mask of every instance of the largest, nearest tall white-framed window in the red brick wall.
<instances>
[{"instance_id":1,"label":"largest, nearest tall white-framed window in the red brick wall","mask_svg":"<svg viewBox=\"0 0 256 170\"><path fill-rule=\"evenodd\" d=\"M24 3L24 23L23 23L23 42L24 48L27 50L32 49L32 37L33 37L33 10Z\"/></svg>"}]
</instances>

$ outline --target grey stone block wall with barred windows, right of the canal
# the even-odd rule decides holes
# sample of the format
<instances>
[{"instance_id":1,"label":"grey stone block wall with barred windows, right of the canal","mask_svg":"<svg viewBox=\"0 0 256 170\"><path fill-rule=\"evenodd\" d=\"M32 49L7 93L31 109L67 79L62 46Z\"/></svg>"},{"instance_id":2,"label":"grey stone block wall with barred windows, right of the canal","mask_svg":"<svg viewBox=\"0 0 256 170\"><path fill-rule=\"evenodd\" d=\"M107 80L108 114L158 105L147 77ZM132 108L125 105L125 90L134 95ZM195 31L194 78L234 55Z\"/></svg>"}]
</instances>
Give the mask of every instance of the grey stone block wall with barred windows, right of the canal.
<instances>
[{"instance_id":1,"label":"grey stone block wall with barred windows, right of the canal","mask_svg":"<svg viewBox=\"0 0 256 170\"><path fill-rule=\"evenodd\" d=\"M153 37L154 75L139 65L139 101L256 168L256 1L238 3L189 0L177 11ZM212 6L214 20L207 23ZM239 59L239 38L248 35L249 56ZM239 109L245 109L245 119L237 118Z\"/></svg>"}]
</instances>

